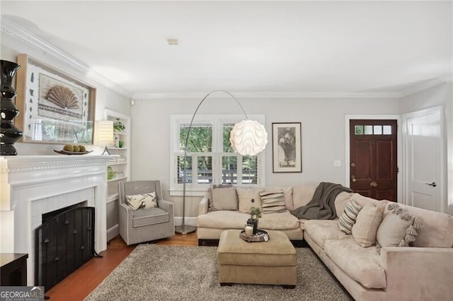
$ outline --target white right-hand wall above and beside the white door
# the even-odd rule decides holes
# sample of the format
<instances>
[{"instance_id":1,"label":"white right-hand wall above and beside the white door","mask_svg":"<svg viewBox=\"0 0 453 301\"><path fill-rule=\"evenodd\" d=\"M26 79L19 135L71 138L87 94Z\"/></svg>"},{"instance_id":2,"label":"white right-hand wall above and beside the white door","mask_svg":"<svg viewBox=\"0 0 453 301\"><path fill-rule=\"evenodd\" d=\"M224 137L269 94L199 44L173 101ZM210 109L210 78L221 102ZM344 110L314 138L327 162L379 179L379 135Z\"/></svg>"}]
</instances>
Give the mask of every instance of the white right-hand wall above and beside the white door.
<instances>
[{"instance_id":1,"label":"white right-hand wall above and beside the white door","mask_svg":"<svg viewBox=\"0 0 453 301\"><path fill-rule=\"evenodd\" d=\"M447 146L446 160L447 213L453 214L453 83L437 85L428 90L408 95L400 100L401 114L427 109L429 107L444 107L445 112L445 145Z\"/></svg>"}]
</instances>

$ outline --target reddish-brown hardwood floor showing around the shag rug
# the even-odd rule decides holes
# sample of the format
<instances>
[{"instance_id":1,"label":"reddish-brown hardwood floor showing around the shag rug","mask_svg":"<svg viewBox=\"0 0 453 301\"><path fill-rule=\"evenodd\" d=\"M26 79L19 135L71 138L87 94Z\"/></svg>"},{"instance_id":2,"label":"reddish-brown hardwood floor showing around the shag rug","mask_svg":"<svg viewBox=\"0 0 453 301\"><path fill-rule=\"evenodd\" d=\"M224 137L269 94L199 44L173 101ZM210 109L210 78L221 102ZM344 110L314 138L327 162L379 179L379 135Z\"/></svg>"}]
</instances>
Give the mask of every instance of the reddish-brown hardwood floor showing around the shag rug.
<instances>
[{"instance_id":1,"label":"reddish-brown hardwood floor showing around the shag rug","mask_svg":"<svg viewBox=\"0 0 453 301\"><path fill-rule=\"evenodd\" d=\"M165 240L159 240L156 244L197 246L197 232L188 235L176 234ZM108 242L107 249L101 252L102 258L91 259L46 291L45 295L52 301L84 300L84 297L91 293L136 246L127 246L121 237L115 237Z\"/></svg>"}]
</instances>

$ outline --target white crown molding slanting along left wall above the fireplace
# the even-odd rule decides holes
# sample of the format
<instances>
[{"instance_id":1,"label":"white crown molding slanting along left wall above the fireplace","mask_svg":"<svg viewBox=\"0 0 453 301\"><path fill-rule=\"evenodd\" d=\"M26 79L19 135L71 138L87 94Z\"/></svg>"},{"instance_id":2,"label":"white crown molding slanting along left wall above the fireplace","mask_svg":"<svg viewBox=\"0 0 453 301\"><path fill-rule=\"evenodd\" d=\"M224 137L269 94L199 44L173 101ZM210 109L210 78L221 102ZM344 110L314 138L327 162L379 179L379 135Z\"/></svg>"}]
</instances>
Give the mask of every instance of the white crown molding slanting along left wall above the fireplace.
<instances>
[{"instance_id":1,"label":"white crown molding slanting along left wall above the fireplace","mask_svg":"<svg viewBox=\"0 0 453 301\"><path fill-rule=\"evenodd\" d=\"M51 57L52 59L55 59L56 61L69 66L71 69L85 74L93 81L96 81L101 85L105 85L105 87L110 88L127 98L132 97L132 92L130 92L129 90L122 88L117 83L103 76L103 74L91 69L90 66L84 64L82 61L71 57L71 55L63 52L61 49L50 45L45 40L42 40L40 37L34 35L33 33L30 33L28 30L25 30L23 27L21 27L21 25L18 25L8 18L1 18L1 32L5 33L6 35L10 35L11 37L23 42L25 45L28 45L33 49L38 50L38 52L42 52L47 57Z\"/></svg>"}]
</instances>

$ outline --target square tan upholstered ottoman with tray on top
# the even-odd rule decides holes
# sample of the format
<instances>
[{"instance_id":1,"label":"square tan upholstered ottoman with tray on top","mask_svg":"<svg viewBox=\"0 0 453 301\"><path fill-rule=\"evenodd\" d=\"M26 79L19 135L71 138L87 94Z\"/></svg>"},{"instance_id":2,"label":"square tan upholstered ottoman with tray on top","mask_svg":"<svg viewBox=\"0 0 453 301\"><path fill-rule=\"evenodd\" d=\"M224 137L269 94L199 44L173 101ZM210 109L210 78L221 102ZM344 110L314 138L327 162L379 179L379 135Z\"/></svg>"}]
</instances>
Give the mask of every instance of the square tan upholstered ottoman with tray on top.
<instances>
[{"instance_id":1,"label":"square tan upholstered ottoman with tray on top","mask_svg":"<svg viewBox=\"0 0 453 301\"><path fill-rule=\"evenodd\" d=\"M217 248L220 285L256 283L294 288L297 282L297 255L287 235L268 231L268 242L246 242L241 230L225 230Z\"/></svg>"}]
</instances>

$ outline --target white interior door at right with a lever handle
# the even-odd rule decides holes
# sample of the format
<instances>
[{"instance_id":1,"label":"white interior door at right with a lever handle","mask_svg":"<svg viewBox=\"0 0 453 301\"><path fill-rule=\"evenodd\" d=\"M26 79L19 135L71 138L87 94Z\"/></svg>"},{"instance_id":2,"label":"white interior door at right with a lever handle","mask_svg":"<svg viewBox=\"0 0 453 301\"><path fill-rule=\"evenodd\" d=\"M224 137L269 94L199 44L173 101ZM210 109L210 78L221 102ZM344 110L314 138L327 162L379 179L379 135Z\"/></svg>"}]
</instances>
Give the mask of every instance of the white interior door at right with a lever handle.
<instances>
[{"instance_id":1,"label":"white interior door at right with a lever handle","mask_svg":"<svg viewBox=\"0 0 453 301\"><path fill-rule=\"evenodd\" d=\"M442 107L403 115L408 205L445 212Z\"/></svg>"}]
</instances>

